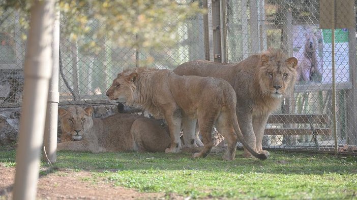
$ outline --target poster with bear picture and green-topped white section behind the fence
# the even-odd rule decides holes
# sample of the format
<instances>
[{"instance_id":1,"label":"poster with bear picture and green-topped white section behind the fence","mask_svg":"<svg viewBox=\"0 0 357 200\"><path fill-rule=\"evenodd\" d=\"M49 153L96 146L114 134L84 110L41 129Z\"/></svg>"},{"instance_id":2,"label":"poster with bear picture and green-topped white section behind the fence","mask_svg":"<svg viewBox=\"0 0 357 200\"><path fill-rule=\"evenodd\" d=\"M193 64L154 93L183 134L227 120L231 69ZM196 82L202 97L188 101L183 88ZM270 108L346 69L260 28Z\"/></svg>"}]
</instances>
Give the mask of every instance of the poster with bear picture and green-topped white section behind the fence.
<instances>
[{"instance_id":1,"label":"poster with bear picture and green-topped white section behind the fence","mask_svg":"<svg viewBox=\"0 0 357 200\"><path fill-rule=\"evenodd\" d=\"M293 56L297 58L297 81L332 83L331 29L314 25L293 27ZM348 30L335 29L336 82L349 81Z\"/></svg>"}]
</instances>

